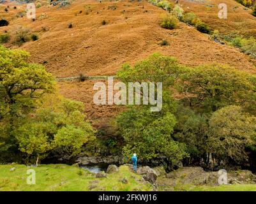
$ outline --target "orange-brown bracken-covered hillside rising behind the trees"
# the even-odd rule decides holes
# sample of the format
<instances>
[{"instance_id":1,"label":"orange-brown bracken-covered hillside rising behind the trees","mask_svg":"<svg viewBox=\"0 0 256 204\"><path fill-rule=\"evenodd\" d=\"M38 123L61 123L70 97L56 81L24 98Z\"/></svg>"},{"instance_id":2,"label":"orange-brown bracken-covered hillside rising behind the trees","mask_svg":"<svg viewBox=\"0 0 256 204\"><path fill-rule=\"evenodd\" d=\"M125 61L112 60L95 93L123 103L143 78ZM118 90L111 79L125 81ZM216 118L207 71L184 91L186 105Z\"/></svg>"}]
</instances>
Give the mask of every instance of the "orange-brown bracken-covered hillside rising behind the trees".
<instances>
[{"instance_id":1,"label":"orange-brown bracken-covered hillside rising behind the trees","mask_svg":"<svg viewBox=\"0 0 256 204\"><path fill-rule=\"evenodd\" d=\"M228 5L227 20L218 18L219 3ZM256 18L234 0L180 0L179 4L223 34L236 31L256 36ZM55 77L73 77L80 73L88 76L115 75L124 62L133 64L153 52L172 55L189 66L218 62L256 73L255 59L238 48L209 40L207 34L200 33L194 27L179 23L177 29L163 29L158 22L165 11L147 1L100 3L96 0L77 0L67 8L42 3L41 8L36 9L35 21L15 17L25 6L17 6L14 10L13 5L11 3L8 13L4 11L6 6L0 6L1 18L10 21L7 27L0 27L0 33L12 33L17 25L29 27L32 33L37 33L39 40L26 42L19 48L29 51L31 61L44 64ZM232 9L234 6L237 6L235 10ZM103 25L103 20L107 24ZM70 23L72 28L68 28ZM162 40L167 40L170 45L160 46ZM11 43L6 46L17 48ZM120 108L114 106L93 104L93 83L58 84L61 94L86 103L86 112L92 119L119 112Z\"/></svg>"}]
</instances>

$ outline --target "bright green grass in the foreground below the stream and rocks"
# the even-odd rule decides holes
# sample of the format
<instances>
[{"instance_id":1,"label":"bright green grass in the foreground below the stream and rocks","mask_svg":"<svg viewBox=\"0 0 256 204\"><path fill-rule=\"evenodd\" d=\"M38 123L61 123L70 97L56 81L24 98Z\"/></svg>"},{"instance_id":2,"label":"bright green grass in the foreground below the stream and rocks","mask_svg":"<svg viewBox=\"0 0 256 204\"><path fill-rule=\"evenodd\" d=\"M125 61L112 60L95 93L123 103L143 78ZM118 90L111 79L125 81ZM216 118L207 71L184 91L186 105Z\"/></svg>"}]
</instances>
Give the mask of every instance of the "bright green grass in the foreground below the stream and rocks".
<instances>
[{"instance_id":1,"label":"bright green grass in the foreground below the stream and rocks","mask_svg":"<svg viewBox=\"0 0 256 204\"><path fill-rule=\"evenodd\" d=\"M14 171L10 171L15 168ZM27 184L27 166L20 164L0 165L0 191L152 191L153 186L142 182L141 175L120 166L107 178L96 178L83 168L66 164L42 164L31 168L36 172L36 184ZM121 182L128 180L127 184ZM162 190L161 187L159 189ZM221 186L175 186L173 191L256 191L254 184Z\"/></svg>"}]
</instances>

